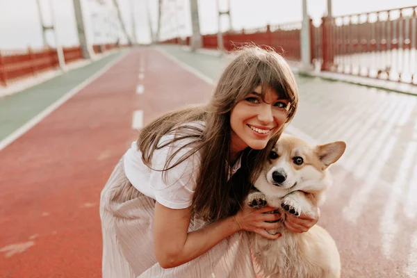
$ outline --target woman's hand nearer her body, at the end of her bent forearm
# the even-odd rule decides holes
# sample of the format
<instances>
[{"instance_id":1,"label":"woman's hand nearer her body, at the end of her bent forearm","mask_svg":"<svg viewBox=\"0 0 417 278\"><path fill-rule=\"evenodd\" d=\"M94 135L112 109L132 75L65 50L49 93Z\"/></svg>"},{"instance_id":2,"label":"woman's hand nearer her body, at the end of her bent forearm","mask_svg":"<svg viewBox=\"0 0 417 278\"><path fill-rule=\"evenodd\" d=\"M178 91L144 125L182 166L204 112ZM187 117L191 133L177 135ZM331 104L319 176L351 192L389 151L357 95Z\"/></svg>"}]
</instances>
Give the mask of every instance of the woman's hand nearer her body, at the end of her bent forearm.
<instances>
[{"instance_id":1,"label":"woman's hand nearer her body, at the end of her bent forearm","mask_svg":"<svg viewBox=\"0 0 417 278\"><path fill-rule=\"evenodd\" d=\"M250 208L249 206L244 206L236 215L234 215L234 220L240 230L245 231L254 231L256 234L260 234L264 238L276 239L281 236L281 234L269 234L265 229L272 230L277 229L282 226L281 222L268 223L265 221L275 221L281 218L280 213L266 213L269 211L275 211L277 208L272 208L270 206L265 206L263 208Z\"/></svg>"}]
</instances>

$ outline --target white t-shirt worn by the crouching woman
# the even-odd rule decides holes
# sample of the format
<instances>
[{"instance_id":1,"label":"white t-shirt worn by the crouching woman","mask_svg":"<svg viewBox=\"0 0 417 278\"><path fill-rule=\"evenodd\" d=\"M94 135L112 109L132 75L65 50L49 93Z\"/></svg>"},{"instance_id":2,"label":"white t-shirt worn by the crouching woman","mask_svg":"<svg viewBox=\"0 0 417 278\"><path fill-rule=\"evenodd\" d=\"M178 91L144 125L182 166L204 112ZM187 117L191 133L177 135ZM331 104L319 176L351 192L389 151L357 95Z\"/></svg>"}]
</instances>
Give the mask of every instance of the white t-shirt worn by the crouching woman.
<instances>
[{"instance_id":1,"label":"white t-shirt worn by the crouching woman","mask_svg":"<svg viewBox=\"0 0 417 278\"><path fill-rule=\"evenodd\" d=\"M193 122L191 124L204 129L203 122ZM172 138L174 138L174 134L168 133L161 138L158 145L163 145L164 142L171 141ZM132 186L137 190L152 199L156 199L163 206L177 209L188 208L193 201L197 183L200 153L196 152L179 165L167 170L166 173L156 171L162 170L165 166L165 161L173 151L186 145L187 142L190 142L190 140L179 140L162 149L156 149L151 163L152 168L155 170L150 169L142 162L142 153L138 150L136 142L132 142L131 148L124 154L124 172L127 179L129 179ZM174 156L170 165L176 163L190 149L192 147L184 147L181 149L181 152ZM233 165L233 174L240 168L240 161L241 158Z\"/></svg>"}]
</instances>

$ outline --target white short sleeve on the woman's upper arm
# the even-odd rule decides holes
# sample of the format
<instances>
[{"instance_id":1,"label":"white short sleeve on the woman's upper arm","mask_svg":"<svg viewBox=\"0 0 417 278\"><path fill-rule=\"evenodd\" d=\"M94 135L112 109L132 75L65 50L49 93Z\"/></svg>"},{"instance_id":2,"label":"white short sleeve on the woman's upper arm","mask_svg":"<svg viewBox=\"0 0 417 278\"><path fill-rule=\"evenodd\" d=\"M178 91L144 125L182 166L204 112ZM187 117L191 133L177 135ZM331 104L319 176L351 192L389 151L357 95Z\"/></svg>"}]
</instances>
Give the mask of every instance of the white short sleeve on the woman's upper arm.
<instances>
[{"instance_id":1,"label":"white short sleeve on the woman's upper arm","mask_svg":"<svg viewBox=\"0 0 417 278\"><path fill-rule=\"evenodd\" d=\"M163 136L160 144L169 142L173 136ZM179 140L171 143L162 149L154 151L152 157L152 168L149 185L154 188L155 199L158 203L168 208L180 209L188 208L193 201L195 186L197 184L197 174L200 165L199 153L192 154L186 160L179 163L167 171L162 170L165 162L175 151L186 145L189 140ZM192 149L192 147L183 147L170 162L174 165L179 159Z\"/></svg>"}]
</instances>

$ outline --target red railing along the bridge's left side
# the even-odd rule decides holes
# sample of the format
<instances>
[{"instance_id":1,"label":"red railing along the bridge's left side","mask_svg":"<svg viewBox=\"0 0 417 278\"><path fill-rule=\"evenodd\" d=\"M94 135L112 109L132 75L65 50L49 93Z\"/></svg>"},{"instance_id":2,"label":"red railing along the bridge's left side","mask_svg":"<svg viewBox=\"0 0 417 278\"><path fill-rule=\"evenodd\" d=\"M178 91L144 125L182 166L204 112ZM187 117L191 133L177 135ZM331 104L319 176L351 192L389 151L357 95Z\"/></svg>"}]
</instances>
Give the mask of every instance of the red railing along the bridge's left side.
<instances>
[{"instance_id":1,"label":"red railing along the bridge's left side","mask_svg":"<svg viewBox=\"0 0 417 278\"><path fill-rule=\"evenodd\" d=\"M95 53L114 49L116 44L94 45ZM81 47L63 48L65 63L83 58ZM7 85L59 66L56 49L0 50L0 85Z\"/></svg>"}]
</instances>

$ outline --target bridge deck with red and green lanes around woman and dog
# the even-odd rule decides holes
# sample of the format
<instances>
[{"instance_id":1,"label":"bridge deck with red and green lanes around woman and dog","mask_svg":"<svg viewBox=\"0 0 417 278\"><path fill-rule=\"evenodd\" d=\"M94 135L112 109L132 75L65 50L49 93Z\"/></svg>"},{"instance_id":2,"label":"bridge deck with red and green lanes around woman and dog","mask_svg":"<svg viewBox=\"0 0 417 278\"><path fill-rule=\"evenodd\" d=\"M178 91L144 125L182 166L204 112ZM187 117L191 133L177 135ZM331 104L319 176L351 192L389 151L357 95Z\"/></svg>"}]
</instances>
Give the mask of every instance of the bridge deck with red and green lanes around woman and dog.
<instances>
[{"instance_id":1,"label":"bridge deck with red and green lanes around woman and dog","mask_svg":"<svg viewBox=\"0 0 417 278\"><path fill-rule=\"evenodd\" d=\"M206 101L227 60L179 47L119 55L0 99L0 277L100 277L99 193L132 126ZM288 131L347 142L320 218L343 277L417 277L417 98L297 81Z\"/></svg>"}]
</instances>

